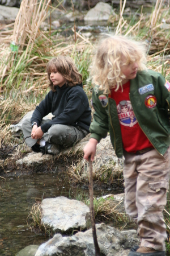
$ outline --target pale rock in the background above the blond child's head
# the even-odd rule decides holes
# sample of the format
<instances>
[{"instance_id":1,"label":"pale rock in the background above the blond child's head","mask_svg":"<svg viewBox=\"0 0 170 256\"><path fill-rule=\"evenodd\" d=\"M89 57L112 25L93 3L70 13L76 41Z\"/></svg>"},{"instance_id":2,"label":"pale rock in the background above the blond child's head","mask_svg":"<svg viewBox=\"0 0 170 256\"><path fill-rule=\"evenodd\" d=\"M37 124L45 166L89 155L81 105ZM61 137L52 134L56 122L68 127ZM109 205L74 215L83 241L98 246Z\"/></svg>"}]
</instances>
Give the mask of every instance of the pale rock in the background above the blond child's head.
<instances>
[{"instance_id":1,"label":"pale rock in the background above the blond child's head","mask_svg":"<svg viewBox=\"0 0 170 256\"><path fill-rule=\"evenodd\" d=\"M112 6L108 3L99 2L97 5L90 9L84 16L84 20L108 20L112 13Z\"/></svg>"}]
</instances>

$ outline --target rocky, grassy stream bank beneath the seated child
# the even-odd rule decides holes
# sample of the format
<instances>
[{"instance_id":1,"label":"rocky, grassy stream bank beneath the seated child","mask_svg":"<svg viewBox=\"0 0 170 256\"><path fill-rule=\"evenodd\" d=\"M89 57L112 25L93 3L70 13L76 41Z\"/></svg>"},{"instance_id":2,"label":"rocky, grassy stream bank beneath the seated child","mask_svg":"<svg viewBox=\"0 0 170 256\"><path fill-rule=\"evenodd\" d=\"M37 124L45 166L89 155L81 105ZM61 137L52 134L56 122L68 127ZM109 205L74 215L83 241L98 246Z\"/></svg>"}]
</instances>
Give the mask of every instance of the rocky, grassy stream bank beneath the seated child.
<instances>
[{"instance_id":1,"label":"rocky, grassy stream bank beneath the seated child","mask_svg":"<svg viewBox=\"0 0 170 256\"><path fill-rule=\"evenodd\" d=\"M11 155L7 156L6 164L0 167L0 175L2 177L18 177L62 172L70 179L72 185L88 189L88 163L83 159L83 148L89 138L90 134L74 147L66 148L56 156L42 155L31 151L14 156L12 155L14 154L13 151ZM1 159L9 150L10 147L4 148ZM109 135L107 138L101 139L101 142L97 144L93 163L94 189L124 189L123 162L123 159L118 159L115 155Z\"/></svg>"}]
</instances>

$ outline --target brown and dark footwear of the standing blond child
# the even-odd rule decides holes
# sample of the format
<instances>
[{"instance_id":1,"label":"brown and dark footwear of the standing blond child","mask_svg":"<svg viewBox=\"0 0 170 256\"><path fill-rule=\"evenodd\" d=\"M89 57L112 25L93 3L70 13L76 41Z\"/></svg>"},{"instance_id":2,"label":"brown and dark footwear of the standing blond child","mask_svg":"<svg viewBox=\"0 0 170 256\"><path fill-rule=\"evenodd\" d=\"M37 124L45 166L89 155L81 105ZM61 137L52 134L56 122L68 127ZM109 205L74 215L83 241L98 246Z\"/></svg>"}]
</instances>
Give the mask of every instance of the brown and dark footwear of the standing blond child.
<instances>
[{"instance_id":1,"label":"brown and dark footwear of the standing blond child","mask_svg":"<svg viewBox=\"0 0 170 256\"><path fill-rule=\"evenodd\" d=\"M139 247L138 249L138 251L131 250L128 256L165 256L165 251L156 251L150 247Z\"/></svg>"}]
</instances>

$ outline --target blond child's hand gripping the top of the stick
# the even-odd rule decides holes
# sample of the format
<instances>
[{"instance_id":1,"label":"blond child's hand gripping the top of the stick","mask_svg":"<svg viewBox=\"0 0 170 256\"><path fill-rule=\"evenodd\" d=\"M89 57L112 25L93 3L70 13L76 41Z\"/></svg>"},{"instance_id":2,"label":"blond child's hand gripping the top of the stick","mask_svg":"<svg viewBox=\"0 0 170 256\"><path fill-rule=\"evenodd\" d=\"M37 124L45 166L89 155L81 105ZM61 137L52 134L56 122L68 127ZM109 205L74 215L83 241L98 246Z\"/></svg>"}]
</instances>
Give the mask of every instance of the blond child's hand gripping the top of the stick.
<instances>
[{"instance_id":1,"label":"blond child's hand gripping the top of the stick","mask_svg":"<svg viewBox=\"0 0 170 256\"><path fill-rule=\"evenodd\" d=\"M88 161L89 156L91 156L90 160L94 160L97 143L98 141L94 138L89 140L89 142L84 147L84 159Z\"/></svg>"}]
</instances>

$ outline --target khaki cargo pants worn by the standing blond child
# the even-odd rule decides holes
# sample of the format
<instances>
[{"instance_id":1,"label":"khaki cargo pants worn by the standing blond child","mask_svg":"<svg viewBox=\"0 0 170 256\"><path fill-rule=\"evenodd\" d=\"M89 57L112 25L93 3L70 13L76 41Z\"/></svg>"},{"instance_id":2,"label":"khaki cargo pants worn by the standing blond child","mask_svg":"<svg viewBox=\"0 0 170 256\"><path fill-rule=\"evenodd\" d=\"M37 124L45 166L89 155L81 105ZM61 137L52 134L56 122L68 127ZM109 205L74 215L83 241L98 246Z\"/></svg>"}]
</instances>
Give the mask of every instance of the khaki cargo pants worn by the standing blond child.
<instances>
[{"instance_id":1,"label":"khaki cargo pants worn by the standing blond child","mask_svg":"<svg viewBox=\"0 0 170 256\"><path fill-rule=\"evenodd\" d=\"M155 149L142 155L124 152L125 209L138 224L141 246L165 251L163 210L169 189L169 148L164 156Z\"/></svg>"}]
</instances>

